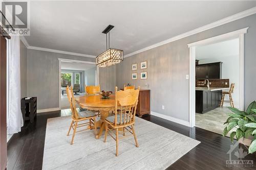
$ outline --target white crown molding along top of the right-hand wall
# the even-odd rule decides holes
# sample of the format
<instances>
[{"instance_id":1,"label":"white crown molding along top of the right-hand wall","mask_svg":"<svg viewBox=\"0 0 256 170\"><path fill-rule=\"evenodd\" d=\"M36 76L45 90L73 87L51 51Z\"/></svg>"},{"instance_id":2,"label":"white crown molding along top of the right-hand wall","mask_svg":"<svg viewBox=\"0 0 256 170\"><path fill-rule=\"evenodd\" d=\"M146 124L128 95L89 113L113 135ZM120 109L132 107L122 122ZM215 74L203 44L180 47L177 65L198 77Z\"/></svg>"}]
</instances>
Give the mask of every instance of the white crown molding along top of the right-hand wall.
<instances>
[{"instance_id":1,"label":"white crown molding along top of the right-hand wall","mask_svg":"<svg viewBox=\"0 0 256 170\"><path fill-rule=\"evenodd\" d=\"M133 56L135 54L138 54L138 53L141 53L141 52L144 52L144 51L147 51L147 50L150 50L150 49L155 48L155 47L160 46L160 45L167 44L169 42L173 42L173 41L176 41L176 40L179 40L179 39L182 39L182 38L185 38L185 37L188 37L188 36L191 36L191 35L194 35L194 34L197 34L197 33L200 33L200 32L203 32L203 31L206 31L206 30L218 27L218 26L221 26L221 25L224 25L225 23L232 22L234 20L238 20L238 19L244 18L244 17L249 16L249 15L253 15L255 13L256 13L256 7L250 8L250 9L245 10L243 12L231 15L231 16L223 18L221 20L209 23L208 25L199 27L195 30L188 31L186 33L177 35L177 36L169 38L167 40L164 40L164 41L158 42L156 44L147 46L147 47L142 48L142 49L140 49L136 52L125 55L124 58Z\"/></svg>"}]
</instances>

